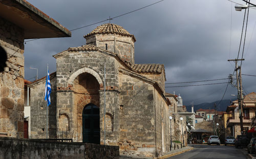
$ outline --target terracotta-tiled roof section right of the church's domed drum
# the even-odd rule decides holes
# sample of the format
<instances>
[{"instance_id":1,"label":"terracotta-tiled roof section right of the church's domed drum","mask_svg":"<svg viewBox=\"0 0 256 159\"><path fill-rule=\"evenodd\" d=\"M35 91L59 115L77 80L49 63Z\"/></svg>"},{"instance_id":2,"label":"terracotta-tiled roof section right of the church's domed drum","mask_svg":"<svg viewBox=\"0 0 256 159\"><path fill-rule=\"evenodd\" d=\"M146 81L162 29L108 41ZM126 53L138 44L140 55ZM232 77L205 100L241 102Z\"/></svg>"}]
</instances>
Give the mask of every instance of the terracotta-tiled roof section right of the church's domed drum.
<instances>
[{"instance_id":1,"label":"terracotta-tiled roof section right of the church's domed drum","mask_svg":"<svg viewBox=\"0 0 256 159\"><path fill-rule=\"evenodd\" d=\"M163 64L133 64L132 69L137 73L162 73Z\"/></svg>"}]
</instances>

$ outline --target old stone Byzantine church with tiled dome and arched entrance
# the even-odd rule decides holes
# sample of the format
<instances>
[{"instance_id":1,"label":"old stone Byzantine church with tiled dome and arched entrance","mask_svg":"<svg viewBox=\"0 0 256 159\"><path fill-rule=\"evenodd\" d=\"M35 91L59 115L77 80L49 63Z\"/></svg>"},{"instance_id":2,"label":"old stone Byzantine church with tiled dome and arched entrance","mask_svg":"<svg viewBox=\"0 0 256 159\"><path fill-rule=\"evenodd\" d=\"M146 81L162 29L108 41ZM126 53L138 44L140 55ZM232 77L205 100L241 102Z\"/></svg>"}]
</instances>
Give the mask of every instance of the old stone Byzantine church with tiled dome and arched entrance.
<instances>
[{"instance_id":1,"label":"old stone Byzantine church with tiled dome and arched entrance","mask_svg":"<svg viewBox=\"0 0 256 159\"><path fill-rule=\"evenodd\" d=\"M86 45L53 56L48 138L116 145L120 155L169 151L164 65L135 64L136 38L118 25L103 24L84 38ZM31 138L46 137L45 81L28 84Z\"/></svg>"}]
</instances>

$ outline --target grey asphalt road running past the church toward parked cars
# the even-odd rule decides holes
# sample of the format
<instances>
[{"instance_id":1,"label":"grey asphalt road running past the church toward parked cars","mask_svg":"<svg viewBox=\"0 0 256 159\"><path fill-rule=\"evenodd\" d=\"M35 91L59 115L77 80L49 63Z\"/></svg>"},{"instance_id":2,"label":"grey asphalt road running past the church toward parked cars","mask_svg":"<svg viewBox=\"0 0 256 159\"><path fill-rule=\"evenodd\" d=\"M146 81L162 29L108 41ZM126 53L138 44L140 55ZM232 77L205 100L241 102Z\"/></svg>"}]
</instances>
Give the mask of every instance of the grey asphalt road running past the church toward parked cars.
<instances>
[{"instance_id":1,"label":"grey asphalt road running past the church toward parked cars","mask_svg":"<svg viewBox=\"0 0 256 159\"><path fill-rule=\"evenodd\" d=\"M193 145L194 149L191 151L187 151L185 153L175 155L171 158L194 158L194 159L203 159L203 158L238 158L238 159L246 159L247 152L242 148L235 148L234 146L217 146L217 145Z\"/></svg>"}]
</instances>

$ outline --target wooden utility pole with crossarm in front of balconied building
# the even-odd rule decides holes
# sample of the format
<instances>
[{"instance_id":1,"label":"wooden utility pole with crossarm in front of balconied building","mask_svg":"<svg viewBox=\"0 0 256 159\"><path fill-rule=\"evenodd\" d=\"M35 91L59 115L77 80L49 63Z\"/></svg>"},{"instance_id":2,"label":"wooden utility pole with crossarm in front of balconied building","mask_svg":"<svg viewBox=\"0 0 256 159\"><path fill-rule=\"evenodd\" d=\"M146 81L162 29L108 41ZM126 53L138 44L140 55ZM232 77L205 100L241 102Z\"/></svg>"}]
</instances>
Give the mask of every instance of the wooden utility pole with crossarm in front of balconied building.
<instances>
[{"instance_id":1,"label":"wooden utility pole with crossarm in front of balconied building","mask_svg":"<svg viewBox=\"0 0 256 159\"><path fill-rule=\"evenodd\" d=\"M239 104L239 118L240 118L240 128L241 134L243 134L244 127L243 127L243 93L242 93L242 77L241 77L241 66L238 66L238 61L243 61L244 59L232 59L228 61L234 61L236 63L236 71L237 74L237 89L238 89L238 104ZM239 70L239 75L238 75ZM231 83L232 84L232 83Z\"/></svg>"}]
</instances>

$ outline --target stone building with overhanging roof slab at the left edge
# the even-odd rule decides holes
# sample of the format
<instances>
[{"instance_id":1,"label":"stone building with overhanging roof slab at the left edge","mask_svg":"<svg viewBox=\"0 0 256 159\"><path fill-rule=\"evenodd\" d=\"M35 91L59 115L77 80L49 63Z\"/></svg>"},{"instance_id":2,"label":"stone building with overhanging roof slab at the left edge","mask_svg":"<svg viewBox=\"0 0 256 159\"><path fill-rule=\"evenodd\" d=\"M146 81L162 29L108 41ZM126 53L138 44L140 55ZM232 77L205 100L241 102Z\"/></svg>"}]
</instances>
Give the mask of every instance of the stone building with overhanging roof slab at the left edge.
<instances>
[{"instance_id":1,"label":"stone building with overhanging roof slab at the left edge","mask_svg":"<svg viewBox=\"0 0 256 159\"><path fill-rule=\"evenodd\" d=\"M24 40L68 36L71 32L27 1L0 1L0 46L8 57L0 73L0 137L24 136Z\"/></svg>"}]
</instances>

